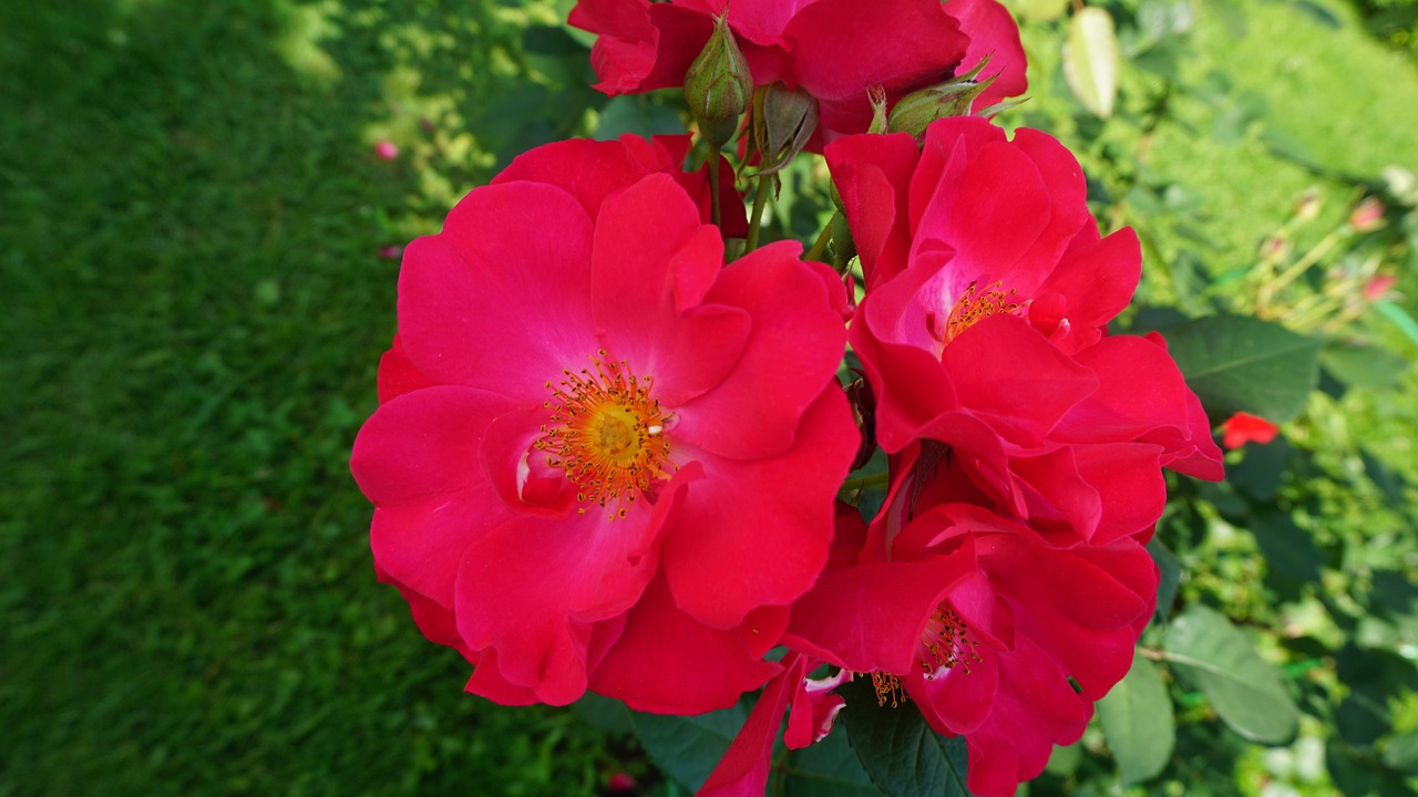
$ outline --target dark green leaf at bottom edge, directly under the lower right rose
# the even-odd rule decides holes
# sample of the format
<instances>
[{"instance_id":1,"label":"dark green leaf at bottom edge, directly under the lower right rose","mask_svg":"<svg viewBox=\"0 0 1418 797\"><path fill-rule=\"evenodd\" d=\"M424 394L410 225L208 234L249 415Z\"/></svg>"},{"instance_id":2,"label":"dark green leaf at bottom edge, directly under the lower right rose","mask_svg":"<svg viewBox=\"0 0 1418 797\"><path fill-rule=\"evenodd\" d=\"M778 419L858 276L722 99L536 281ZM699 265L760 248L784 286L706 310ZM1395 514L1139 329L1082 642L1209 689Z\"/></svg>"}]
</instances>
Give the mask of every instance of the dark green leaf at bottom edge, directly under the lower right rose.
<instances>
[{"instance_id":1,"label":"dark green leaf at bottom edge, directly under the lower right rose","mask_svg":"<svg viewBox=\"0 0 1418 797\"><path fill-rule=\"evenodd\" d=\"M946 737L926 725L915 703L878 706L869 678L839 692L841 720L862 769L888 797L968 797L966 740Z\"/></svg>"}]
</instances>

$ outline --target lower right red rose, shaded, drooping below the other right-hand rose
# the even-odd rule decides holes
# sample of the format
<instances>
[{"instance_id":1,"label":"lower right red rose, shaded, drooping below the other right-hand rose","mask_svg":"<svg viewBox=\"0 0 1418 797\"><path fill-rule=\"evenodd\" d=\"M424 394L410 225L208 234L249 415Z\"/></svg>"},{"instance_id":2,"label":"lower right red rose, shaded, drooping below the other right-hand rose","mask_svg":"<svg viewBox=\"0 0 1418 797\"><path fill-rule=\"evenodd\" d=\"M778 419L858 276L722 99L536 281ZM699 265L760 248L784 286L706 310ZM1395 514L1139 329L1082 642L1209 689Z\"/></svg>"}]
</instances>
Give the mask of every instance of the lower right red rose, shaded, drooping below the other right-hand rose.
<instances>
[{"instance_id":1,"label":"lower right red rose, shaded, drooping below the other right-hand rose","mask_svg":"<svg viewBox=\"0 0 1418 797\"><path fill-rule=\"evenodd\" d=\"M784 642L964 736L971 793L1014 794L1127 672L1157 569L1133 539L1062 549L983 506L916 509L905 528L878 518L858 563L794 604Z\"/></svg>"}]
</instances>

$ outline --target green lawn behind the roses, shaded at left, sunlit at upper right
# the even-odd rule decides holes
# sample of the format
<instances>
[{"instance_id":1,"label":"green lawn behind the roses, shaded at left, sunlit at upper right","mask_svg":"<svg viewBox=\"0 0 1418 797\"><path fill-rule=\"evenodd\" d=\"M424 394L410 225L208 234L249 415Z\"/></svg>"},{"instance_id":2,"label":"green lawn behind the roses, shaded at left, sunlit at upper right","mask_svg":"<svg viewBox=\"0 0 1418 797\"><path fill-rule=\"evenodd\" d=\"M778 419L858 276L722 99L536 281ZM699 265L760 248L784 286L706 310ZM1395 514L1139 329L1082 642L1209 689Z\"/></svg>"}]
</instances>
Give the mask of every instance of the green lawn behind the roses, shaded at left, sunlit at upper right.
<instances>
[{"instance_id":1,"label":"green lawn behind the roses, shaded at left, sunlit at upper right","mask_svg":"<svg viewBox=\"0 0 1418 797\"><path fill-rule=\"evenodd\" d=\"M374 581L346 465L394 328L380 250L601 121L569 6L0 4L0 797L596 794L644 774L574 713L461 693L462 659ZM1225 87L1178 111L1153 167L1187 177L1218 271L1303 189L1343 217L1343 174L1418 167L1392 30L1329 0L1200 6L1187 68ZM1054 45L1029 43L1035 106L1056 102ZM1343 174L1215 135L1252 95ZM1414 403L1354 401L1412 478Z\"/></svg>"}]
</instances>

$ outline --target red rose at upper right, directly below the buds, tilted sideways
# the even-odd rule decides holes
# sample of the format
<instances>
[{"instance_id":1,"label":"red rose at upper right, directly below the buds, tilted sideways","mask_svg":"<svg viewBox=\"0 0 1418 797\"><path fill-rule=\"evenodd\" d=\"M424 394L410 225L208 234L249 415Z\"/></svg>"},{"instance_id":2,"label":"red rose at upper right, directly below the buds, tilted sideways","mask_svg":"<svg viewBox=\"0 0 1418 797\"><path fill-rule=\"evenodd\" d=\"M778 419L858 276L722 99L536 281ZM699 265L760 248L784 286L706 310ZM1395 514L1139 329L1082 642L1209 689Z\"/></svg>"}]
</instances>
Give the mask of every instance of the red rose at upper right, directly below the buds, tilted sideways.
<instances>
[{"instance_id":1,"label":"red rose at upper right, directly below the buds, tilted sideways","mask_svg":"<svg viewBox=\"0 0 1418 797\"><path fill-rule=\"evenodd\" d=\"M1137 240L1099 238L1062 145L959 118L922 149L868 135L825 155L866 278L851 342L882 448L943 442L988 501L1095 543L1150 535L1160 467L1219 478L1163 340L1106 335L1137 285Z\"/></svg>"}]
</instances>

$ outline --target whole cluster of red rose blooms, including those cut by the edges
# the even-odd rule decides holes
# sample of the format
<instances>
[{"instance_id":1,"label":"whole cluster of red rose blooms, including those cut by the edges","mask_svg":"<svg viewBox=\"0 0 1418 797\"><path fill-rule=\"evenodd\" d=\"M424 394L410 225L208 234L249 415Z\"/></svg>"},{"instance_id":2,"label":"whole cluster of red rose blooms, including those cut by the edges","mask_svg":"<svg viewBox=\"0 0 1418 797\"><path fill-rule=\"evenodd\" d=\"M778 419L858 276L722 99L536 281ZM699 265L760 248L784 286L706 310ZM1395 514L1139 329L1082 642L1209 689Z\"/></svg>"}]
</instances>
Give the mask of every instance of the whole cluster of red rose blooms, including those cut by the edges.
<instances>
[{"instance_id":1,"label":"whole cluster of red rose blooms, including those cut by the edges","mask_svg":"<svg viewBox=\"0 0 1418 797\"><path fill-rule=\"evenodd\" d=\"M581 0L571 23L608 92L695 82L718 51L727 77L686 92L700 132L716 105L764 113L753 87L810 98L788 149L825 156L864 298L793 241L726 264L742 197L715 197L718 159L682 167L688 136L525 153L404 251L352 458L376 570L502 703L700 713L763 686L705 794L761 794L783 713L790 747L821 739L851 678L964 736L971 791L1012 794L1127 672L1161 468L1219 478L1219 450L1164 342L1107 333L1139 245L1099 235L1065 147L980 116L881 132L920 96L1022 92L1003 7L725 6ZM838 494L872 447L868 525Z\"/></svg>"}]
</instances>

